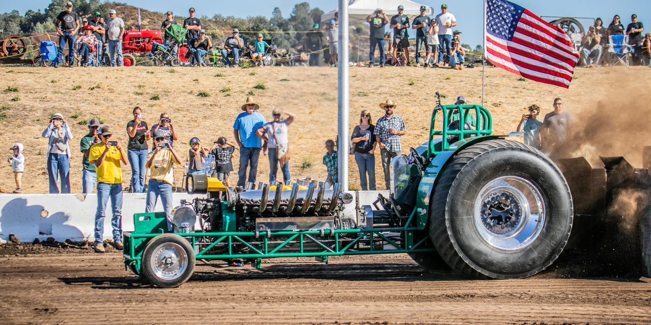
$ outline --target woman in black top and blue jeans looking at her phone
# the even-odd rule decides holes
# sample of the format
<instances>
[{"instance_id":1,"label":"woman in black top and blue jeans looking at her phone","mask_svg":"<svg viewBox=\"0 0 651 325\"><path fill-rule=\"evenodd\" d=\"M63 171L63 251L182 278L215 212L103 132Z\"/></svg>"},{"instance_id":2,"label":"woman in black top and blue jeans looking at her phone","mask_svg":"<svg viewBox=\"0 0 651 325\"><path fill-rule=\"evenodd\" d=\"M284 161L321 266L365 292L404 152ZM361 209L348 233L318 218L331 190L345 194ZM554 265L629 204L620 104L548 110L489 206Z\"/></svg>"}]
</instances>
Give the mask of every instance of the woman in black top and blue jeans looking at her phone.
<instances>
[{"instance_id":1,"label":"woman in black top and blue jeans looking at her phone","mask_svg":"<svg viewBox=\"0 0 651 325\"><path fill-rule=\"evenodd\" d=\"M143 121L140 107L133 108L133 120L126 124L129 143L126 146L127 157L131 165L131 188L133 193L145 192L145 164L147 162L147 140L150 131Z\"/></svg>"}]
</instances>

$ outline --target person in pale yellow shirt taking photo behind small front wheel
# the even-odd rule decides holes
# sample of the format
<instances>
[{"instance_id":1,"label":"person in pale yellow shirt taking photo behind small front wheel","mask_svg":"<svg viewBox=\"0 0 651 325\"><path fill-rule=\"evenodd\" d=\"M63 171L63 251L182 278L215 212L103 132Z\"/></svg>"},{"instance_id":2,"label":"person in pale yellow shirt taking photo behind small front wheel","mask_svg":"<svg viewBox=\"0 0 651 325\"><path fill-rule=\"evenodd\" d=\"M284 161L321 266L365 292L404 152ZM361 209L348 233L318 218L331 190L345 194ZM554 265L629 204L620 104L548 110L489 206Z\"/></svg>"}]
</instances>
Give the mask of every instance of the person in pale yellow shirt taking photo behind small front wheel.
<instances>
[{"instance_id":1,"label":"person in pale yellow shirt taking photo behind small front wheel","mask_svg":"<svg viewBox=\"0 0 651 325\"><path fill-rule=\"evenodd\" d=\"M172 230L172 183L174 183L174 164L181 164L174 148L165 140L163 131L154 132L154 150L147 155L145 166L150 169L147 187L147 206L145 213L154 212L160 196L167 216L167 229Z\"/></svg>"}]
</instances>

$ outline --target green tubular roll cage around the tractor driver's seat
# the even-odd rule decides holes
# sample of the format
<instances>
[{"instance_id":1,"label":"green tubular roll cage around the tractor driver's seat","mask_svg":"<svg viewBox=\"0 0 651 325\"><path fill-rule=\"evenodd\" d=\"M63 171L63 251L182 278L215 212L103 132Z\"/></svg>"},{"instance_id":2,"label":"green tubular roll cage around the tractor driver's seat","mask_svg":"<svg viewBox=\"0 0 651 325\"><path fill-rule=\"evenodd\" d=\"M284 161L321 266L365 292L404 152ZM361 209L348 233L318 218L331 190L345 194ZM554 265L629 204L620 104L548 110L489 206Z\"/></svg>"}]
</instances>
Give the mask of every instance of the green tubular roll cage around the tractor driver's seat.
<instances>
[{"instance_id":1,"label":"green tubular roll cage around the tractor driver's seat","mask_svg":"<svg viewBox=\"0 0 651 325\"><path fill-rule=\"evenodd\" d=\"M477 120L477 129L459 131L448 130L447 125L449 125L451 122L450 112L456 109L458 109L459 112L464 112L464 114L459 114L459 125L464 125L468 114L474 110L476 116L475 120ZM434 127L434 123L436 122L436 115L438 114L439 110L443 113L443 128L441 131L437 131ZM434 158L442 151L447 151L450 149L454 150L454 148L450 148L450 143L447 140L447 136L449 135L458 135L459 140L461 141L465 138L469 138L470 136L491 135L492 133L493 119L490 115L490 112L488 109L485 109L480 105L443 105L440 108L437 107L434 109L434 112L432 112L432 122L430 123L430 136L428 139L429 145L427 155L429 158ZM442 136L442 140L440 142L435 141L435 136Z\"/></svg>"}]
</instances>

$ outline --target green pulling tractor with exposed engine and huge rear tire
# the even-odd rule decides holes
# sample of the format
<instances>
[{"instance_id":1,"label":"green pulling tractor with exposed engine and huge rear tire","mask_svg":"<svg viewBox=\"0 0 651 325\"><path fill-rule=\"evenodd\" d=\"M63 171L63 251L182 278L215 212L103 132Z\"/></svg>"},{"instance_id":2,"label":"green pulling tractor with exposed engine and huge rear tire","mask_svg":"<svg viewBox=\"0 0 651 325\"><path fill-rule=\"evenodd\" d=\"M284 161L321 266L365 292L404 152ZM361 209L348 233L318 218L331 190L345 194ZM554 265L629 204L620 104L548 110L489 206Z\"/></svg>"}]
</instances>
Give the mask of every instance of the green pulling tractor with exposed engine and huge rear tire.
<instances>
[{"instance_id":1,"label":"green pulling tractor with exposed engine and huge rear tire","mask_svg":"<svg viewBox=\"0 0 651 325\"><path fill-rule=\"evenodd\" d=\"M273 257L387 253L469 278L525 278L559 257L574 218L559 168L493 135L479 105L437 106L428 142L393 159L391 192L370 205L314 181L232 189L191 175L187 190L206 196L182 202L171 224L164 213L135 214L124 233L125 266L159 287L187 281L197 260L260 268Z\"/></svg>"}]
</instances>

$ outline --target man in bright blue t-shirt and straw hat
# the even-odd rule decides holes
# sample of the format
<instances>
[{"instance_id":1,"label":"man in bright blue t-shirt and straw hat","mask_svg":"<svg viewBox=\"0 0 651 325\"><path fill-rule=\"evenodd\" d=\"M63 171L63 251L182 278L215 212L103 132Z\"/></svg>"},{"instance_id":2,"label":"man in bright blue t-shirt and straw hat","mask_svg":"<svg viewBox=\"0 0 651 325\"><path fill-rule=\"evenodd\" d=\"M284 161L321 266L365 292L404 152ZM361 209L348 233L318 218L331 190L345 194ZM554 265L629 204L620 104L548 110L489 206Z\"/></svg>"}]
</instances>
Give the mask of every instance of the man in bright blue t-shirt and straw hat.
<instances>
[{"instance_id":1,"label":"man in bright blue t-shirt and straw hat","mask_svg":"<svg viewBox=\"0 0 651 325\"><path fill-rule=\"evenodd\" d=\"M255 183L255 177L258 173L258 159L260 158L260 148L262 147L262 138L258 136L258 129L264 126L267 121L264 116L256 110L260 105L253 100L253 97L246 98L246 103L242 105L244 112L240 113L233 123L233 136L240 146L240 170L238 170L238 187L244 187L246 182L246 169L251 164L249 170L249 182Z\"/></svg>"}]
</instances>

